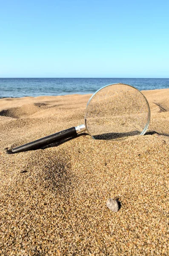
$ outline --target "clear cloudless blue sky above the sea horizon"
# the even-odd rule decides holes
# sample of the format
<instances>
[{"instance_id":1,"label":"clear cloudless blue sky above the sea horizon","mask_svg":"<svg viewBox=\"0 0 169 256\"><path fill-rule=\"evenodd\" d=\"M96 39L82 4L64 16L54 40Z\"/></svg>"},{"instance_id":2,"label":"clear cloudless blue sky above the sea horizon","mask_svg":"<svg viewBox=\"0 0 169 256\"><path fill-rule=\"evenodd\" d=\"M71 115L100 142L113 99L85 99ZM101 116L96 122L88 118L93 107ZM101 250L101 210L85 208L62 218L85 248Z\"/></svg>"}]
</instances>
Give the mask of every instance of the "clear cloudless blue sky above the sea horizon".
<instances>
[{"instance_id":1,"label":"clear cloudless blue sky above the sea horizon","mask_svg":"<svg viewBox=\"0 0 169 256\"><path fill-rule=\"evenodd\" d=\"M169 78L169 1L0 0L0 77Z\"/></svg>"}]
</instances>

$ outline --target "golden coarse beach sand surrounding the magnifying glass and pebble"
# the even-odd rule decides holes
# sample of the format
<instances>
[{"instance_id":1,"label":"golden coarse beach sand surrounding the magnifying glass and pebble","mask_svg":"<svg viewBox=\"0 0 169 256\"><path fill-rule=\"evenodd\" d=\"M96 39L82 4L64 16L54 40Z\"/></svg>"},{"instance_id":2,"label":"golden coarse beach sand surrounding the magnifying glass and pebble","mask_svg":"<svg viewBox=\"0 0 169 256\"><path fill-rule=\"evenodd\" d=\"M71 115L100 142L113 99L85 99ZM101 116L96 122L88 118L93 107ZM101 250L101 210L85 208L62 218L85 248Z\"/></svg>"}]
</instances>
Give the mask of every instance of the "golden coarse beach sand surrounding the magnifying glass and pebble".
<instances>
[{"instance_id":1,"label":"golden coarse beach sand surrounding the magnifying glass and pebble","mask_svg":"<svg viewBox=\"0 0 169 256\"><path fill-rule=\"evenodd\" d=\"M83 133L18 154L11 149L83 124L90 95L0 99L1 256L169 255L169 89L143 94L144 136Z\"/></svg>"}]
</instances>

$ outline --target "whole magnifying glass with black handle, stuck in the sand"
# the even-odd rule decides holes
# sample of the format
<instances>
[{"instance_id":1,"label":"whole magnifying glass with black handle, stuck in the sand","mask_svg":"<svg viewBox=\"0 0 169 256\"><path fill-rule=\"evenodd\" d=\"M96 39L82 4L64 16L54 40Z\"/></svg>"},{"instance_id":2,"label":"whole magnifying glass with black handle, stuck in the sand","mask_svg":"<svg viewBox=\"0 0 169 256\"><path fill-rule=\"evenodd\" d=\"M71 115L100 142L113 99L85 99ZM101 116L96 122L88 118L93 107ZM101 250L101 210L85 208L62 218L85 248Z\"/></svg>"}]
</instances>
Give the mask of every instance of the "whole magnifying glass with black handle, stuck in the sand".
<instances>
[{"instance_id":1,"label":"whole magnifying glass with black handle, stuck in the sand","mask_svg":"<svg viewBox=\"0 0 169 256\"><path fill-rule=\"evenodd\" d=\"M38 149L54 142L75 137L83 131L96 140L122 140L143 135L149 126L150 108L146 97L128 84L109 84L89 99L85 124L72 127L39 140L13 148L13 153Z\"/></svg>"}]
</instances>

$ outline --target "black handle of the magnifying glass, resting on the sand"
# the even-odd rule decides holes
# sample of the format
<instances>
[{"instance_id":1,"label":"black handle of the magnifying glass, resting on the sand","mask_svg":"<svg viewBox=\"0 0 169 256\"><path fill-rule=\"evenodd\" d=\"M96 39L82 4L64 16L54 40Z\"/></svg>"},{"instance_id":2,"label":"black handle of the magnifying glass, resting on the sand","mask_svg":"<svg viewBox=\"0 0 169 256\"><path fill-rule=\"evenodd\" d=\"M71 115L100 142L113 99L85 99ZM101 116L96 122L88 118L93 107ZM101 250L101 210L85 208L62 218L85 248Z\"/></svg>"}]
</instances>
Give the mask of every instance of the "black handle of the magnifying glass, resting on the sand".
<instances>
[{"instance_id":1,"label":"black handle of the magnifying glass, resting on the sand","mask_svg":"<svg viewBox=\"0 0 169 256\"><path fill-rule=\"evenodd\" d=\"M77 132L75 130L75 127L72 127L72 128L66 129L64 131L59 131L59 132L49 135L47 137L43 137L39 140L34 140L30 143L21 145L17 148L13 148L12 152L18 153L18 152L28 151L28 150L32 150L32 149L38 149L43 146L52 144L56 141L60 141L60 140L66 139L66 138L74 137L74 136L77 136Z\"/></svg>"}]
</instances>

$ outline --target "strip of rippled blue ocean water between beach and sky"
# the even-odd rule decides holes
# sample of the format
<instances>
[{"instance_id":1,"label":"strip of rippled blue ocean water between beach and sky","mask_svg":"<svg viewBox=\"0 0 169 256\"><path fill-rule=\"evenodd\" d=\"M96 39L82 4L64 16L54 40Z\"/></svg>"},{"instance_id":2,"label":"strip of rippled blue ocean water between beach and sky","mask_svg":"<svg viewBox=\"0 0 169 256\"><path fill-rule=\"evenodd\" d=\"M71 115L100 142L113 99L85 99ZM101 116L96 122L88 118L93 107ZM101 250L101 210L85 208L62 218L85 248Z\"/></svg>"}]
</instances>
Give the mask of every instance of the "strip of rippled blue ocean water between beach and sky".
<instances>
[{"instance_id":1,"label":"strip of rippled blue ocean water between beach and sky","mask_svg":"<svg viewBox=\"0 0 169 256\"><path fill-rule=\"evenodd\" d=\"M154 78L0 78L0 98L94 93L115 83L139 90L169 88L169 79Z\"/></svg>"}]
</instances>

